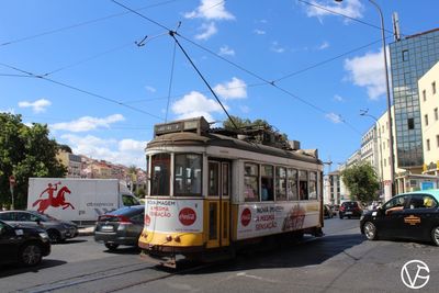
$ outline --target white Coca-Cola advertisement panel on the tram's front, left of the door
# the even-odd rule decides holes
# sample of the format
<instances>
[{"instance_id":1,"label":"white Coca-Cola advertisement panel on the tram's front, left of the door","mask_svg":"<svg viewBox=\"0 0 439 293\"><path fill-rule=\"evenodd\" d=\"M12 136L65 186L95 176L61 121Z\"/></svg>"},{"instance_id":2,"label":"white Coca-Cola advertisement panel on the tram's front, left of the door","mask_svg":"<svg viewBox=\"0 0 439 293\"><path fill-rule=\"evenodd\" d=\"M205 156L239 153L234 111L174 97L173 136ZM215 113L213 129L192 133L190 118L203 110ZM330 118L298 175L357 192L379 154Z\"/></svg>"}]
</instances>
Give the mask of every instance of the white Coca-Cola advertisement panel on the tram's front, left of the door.
<instances>
[{"instance_id":1,"label":"white Coca-Cola advertisement panel on the tram's front, left of the door","mask_svg":"<svg viewBox=\"0 0 439 293\"><path fill-rule=\"evenodd\" d=\"M191 232L203 228L201 200L153 200L145 203L145 226L155 232Z\"/></svg>"}]
</instances>

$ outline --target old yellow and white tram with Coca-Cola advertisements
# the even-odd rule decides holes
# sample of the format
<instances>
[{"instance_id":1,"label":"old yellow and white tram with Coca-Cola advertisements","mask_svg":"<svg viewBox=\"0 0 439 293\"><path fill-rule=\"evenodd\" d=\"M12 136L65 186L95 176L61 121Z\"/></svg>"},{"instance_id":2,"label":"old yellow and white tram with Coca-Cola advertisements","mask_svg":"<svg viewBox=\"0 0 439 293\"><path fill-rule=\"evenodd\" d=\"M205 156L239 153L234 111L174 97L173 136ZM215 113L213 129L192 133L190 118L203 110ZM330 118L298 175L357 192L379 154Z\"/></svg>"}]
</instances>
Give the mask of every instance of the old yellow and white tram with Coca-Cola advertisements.
<instances>
[{"instance_id":1,"label":"old yellow and white tram with Coca-Cola advertisements","mask_svg":"<svg viewBox=\"0 0 439 293\"><path fill-rule=\"evenodd\" d=\"M243 134L244 133L244 134ZM204 117L155 125L143 252L201 259L273 235L320 235L323 164L275 133L211 128Z\"/></svg>"}]
</instances>

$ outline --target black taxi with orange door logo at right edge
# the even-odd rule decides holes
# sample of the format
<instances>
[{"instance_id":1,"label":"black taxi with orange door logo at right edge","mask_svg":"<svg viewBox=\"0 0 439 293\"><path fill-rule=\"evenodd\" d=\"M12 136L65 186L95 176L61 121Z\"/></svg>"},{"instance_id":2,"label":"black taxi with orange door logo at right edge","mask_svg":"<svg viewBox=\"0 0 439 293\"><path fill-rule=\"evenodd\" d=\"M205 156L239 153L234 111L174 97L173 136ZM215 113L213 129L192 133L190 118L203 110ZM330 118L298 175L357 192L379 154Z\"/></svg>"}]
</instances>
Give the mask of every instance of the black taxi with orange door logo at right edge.
<instances>
[{"instance_id":1,"label":"black taxi with orange door logo at right edge","mask_svg":"<svg viewBox=\"0 0 439 293\"><path fill-rule=\"evenodd\" d=\"M439 189L395 195L382 207L364 212L360 229L369 240L406 238L439 246Z\"/></svg>"}]
</instances>

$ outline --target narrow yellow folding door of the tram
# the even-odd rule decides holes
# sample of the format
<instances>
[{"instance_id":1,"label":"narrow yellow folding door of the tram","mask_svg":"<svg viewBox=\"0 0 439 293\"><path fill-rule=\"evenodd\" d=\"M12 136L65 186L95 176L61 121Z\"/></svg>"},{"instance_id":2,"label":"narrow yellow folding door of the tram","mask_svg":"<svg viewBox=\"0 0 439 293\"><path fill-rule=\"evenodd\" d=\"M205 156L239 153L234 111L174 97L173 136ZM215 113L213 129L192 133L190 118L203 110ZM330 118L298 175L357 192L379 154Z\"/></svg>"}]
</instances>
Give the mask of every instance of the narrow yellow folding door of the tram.
<instances>
[{"instance_id":1,"label":"narrow yellow folding door of the tram","mask_svg":"<svg viewBox=\"0 0 439 293\"><path fill-rule=\"evenodd\" d=\"M205 206L207 248L229 245L230 162L209 160L209 194Z\"/></svg>"}]
</instances>

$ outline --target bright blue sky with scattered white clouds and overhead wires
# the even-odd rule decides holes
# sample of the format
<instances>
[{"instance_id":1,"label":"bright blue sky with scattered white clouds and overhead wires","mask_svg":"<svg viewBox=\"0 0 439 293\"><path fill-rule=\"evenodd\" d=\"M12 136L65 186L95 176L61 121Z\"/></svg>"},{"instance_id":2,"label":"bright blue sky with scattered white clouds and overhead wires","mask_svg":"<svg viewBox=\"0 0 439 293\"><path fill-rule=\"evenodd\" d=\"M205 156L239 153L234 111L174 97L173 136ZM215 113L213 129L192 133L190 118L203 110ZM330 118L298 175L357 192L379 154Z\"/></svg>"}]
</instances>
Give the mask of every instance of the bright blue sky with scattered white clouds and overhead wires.
<instances>
[{"instance_id":1,"label":"bright blue sky with scattered white clouds and overhead wires","mask_svg":"<svg viewBox=\"0 0 439 293\"><path fill-rule=\"evenodd\" d=\"M375 2L387 44L393 12L403 36L439 27L437 0ZM365 0L2 0L0 112L145 169L155 124L227 119L210 87L228 114L266 120L330 171L373 126L361 111L386 111L381 41Z\"/></svg>"}]
</instances>

